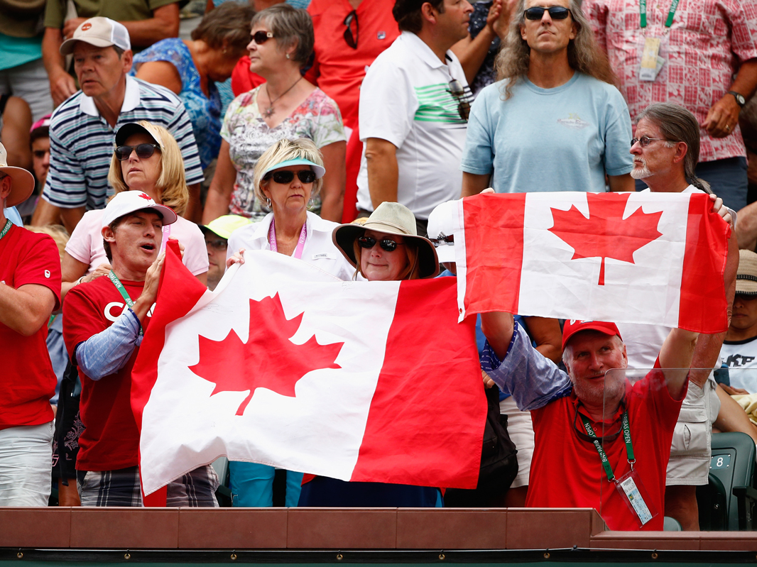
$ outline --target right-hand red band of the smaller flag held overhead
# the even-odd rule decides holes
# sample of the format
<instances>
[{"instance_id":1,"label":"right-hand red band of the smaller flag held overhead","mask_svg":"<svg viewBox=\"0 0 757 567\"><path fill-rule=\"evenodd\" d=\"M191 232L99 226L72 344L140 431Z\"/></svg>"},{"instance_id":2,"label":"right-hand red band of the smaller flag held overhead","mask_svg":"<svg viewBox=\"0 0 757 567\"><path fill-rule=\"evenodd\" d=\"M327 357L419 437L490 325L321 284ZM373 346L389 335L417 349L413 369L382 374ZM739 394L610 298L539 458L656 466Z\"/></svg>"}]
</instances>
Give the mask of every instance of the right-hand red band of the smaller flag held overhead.
<instances>
[{"instance_id":1,"label":"right-hand red band of the smaller flag held overhead","mask_svg":"<svg viewBox=\"0 0 757 567\"><path fill-rule=\"evenodd\" d=\"M712 274L722 274L725 269L731 227L710 209L709 195L691 195L678 327L697 331L702 321L709 320L717 321L722 332L728 328L725 286L722 277Z\"/></svg>"}]
</instances>

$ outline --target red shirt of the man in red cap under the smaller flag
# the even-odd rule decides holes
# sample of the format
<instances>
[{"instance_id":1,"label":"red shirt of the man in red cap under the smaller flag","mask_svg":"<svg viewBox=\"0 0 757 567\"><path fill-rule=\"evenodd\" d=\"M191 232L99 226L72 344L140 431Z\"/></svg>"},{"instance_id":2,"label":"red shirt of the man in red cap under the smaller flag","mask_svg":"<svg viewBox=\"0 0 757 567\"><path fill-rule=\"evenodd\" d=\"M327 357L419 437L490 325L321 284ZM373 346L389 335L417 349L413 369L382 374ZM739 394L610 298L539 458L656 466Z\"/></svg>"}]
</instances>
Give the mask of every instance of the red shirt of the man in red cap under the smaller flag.
<instances>
[{"instance_id":1,"label":"red shirt of the man in red cap under the smaller flag","mask_svg":"<svg viewBox=\"0 0 757 567\"><path fill-rule=\"evenodd\" d=\"M634 470L650 495L649 503L658 513L643 525L644 531L662 530L665 469L685 395L684 391L680 400L671 398L659 370L652 370L634 386L627 384L625 404L636 457ZM615 483L607 480L597 448L578 435L577 429L585 430L581 417L576 415L577 404L578 398L572 394L531 411L535 448L526 506L594 508L611 530L637 531L639 527L633 513L616 491ZM612 426L605 429L606 434L620 428L621 414L622 408L618 408ZM601 435L601 426L593 422L592 425L597 435ZM612 472L620 479L631 470L622 432L603 447Z\"/></svg>"}]
</instances>

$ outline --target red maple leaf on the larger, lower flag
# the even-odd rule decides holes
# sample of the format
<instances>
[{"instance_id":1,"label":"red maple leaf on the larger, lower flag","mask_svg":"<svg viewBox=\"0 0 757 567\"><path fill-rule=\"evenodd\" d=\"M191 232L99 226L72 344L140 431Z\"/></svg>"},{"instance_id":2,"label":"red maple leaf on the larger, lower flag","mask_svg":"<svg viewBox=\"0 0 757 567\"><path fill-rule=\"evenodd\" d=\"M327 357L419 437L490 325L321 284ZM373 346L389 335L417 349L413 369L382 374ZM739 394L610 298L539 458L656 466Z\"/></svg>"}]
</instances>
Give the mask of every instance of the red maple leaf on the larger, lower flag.
<instances>
[{"instance_id":1,"label":"red maple leaf on the larger, lower flag","mask_svg":"<svg viewBox=\"0 0 757 567\"><path fill-rule=\"evenodd\" d=\"M294 398L294 384L310 370L341 368L335 359L344 342L320 345L315 336L304 345L289 340L300 328L302 313L287 319L279 294L250 300L250 336L247 342L230 330L221 341L199 336L200 361L189 367L218 392L250 393L236 414L245 413L257 388L267 388Z\"/></svg>"}]
</instances>

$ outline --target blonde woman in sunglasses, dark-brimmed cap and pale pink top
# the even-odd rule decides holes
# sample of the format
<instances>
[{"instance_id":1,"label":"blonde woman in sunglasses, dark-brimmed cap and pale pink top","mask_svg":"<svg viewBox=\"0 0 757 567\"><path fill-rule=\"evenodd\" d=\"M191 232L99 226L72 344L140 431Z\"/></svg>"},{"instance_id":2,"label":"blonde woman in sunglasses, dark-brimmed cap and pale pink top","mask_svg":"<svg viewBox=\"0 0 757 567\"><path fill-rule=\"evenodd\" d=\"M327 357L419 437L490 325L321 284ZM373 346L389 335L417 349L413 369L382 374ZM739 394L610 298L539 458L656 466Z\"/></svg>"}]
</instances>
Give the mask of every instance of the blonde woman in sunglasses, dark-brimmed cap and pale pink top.
<instances>
[{"instance_id":1,"label":"blonde woman in sunglasses, dark-brimmed cap and pale pink top","mask_svg":"<svg viewBox=\"0 0 757 567\"><path fill-rule=\"evenodd\" d=\"M179 144L167 129L147 120L129 122L116 132L116 147L107 181L116 193L143 191L155 203L184 214L189 193L184 177L184 160ZM107 274L111 265L102 246L104 209L86 212L66 245L63 259L61 299L76 283ZM169 230L170 227L170 230ZM184 245L184 265L207 285L207 247L197 225L179 216L164 228L164 240L180 240Z\"/></svg>"}]
</instances>

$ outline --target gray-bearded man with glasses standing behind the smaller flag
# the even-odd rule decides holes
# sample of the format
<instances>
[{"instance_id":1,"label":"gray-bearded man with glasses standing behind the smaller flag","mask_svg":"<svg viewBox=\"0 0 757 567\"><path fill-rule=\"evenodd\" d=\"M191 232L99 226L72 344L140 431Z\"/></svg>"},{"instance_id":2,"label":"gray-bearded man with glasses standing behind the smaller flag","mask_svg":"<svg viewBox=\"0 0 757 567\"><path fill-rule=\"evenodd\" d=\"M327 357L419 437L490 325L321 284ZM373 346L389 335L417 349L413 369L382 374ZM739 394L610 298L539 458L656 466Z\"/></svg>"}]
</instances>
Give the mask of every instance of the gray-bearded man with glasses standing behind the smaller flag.
<instances>
[{"instance_id":1,"label":"gray-bearded man with glasses standing behind the smaller flag","mask_svg":"<svg viewBox=\"0 0 757 567\"><path fill-rule=\"evenodd\" d=\"M640 113L636 138L631 141L631 153L634 155L631 175L649 186L644 191L709 193L713 209L727 222L735 222L736 213L723 206L722 200L712 194L709 184L696 176L699 124L689 110L671 103L647 107ZM728 243L729 267L735 271L738 261L738 246L735 238L731 238ZM733 299L733 289L727 291L729 300ZM642 324L618 324L618 328L628 345L628 367L653 367L670 329ZM725 333L699 335L691 367L711 369L719 366L724 336ZM697 530L696 486L707 484L712 425L715 423L718 429L722 426L723 430L732 430L733 426L727 424L733 423L734 406L739 406L718 387L710 370L692 370L689 380L668 461L665 516L677 519L684 530ZM745 421L743 429L737 430L749 430L749 421Z\"/></svg>"}]
</instances>

